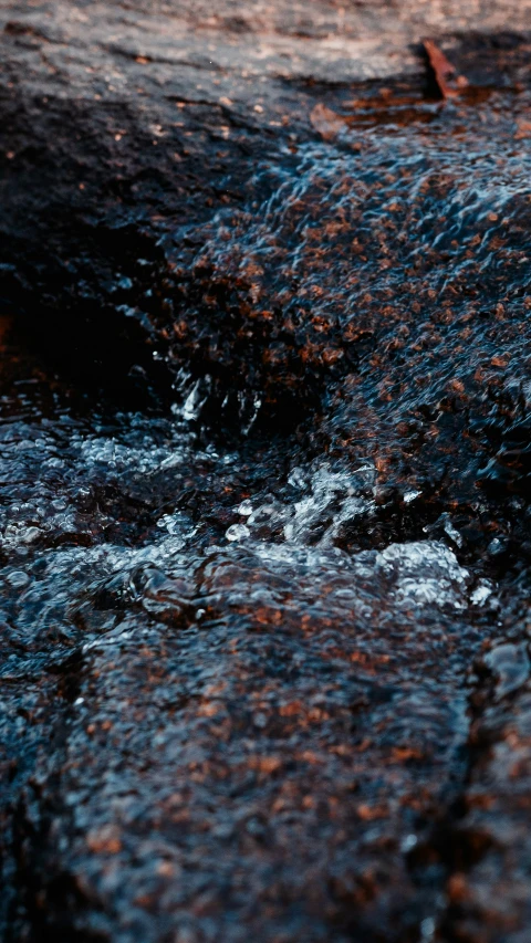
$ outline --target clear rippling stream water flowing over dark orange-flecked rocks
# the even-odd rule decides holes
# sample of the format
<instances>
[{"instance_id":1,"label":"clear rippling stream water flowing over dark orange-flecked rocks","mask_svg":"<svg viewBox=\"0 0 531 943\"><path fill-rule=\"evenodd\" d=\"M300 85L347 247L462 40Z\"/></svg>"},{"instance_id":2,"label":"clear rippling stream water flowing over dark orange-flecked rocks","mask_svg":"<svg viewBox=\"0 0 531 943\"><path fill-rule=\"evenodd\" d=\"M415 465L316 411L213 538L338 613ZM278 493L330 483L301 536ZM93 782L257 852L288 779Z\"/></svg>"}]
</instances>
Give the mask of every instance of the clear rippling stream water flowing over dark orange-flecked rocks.
<instances>
[{"instance_id":1,"label":"clear rippling stream water flowing over dark orange-flecked rocks","mask_svg":"<svg viewBox=\"0 0 531 943\"><path fill-rule=\"evenodd\" d=\"M9 335L9 939L447 939L478 679L529 675L528 105L345 106L168 227L116 272L168 410Z\"/></svg>"}]
</instances>

